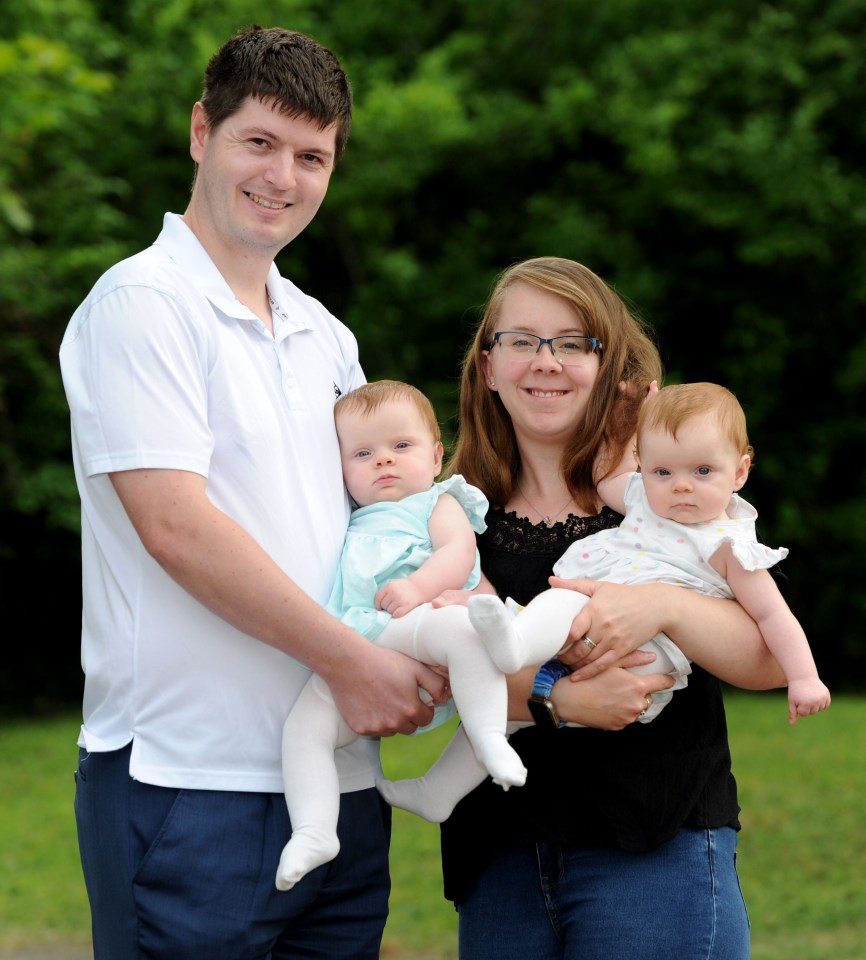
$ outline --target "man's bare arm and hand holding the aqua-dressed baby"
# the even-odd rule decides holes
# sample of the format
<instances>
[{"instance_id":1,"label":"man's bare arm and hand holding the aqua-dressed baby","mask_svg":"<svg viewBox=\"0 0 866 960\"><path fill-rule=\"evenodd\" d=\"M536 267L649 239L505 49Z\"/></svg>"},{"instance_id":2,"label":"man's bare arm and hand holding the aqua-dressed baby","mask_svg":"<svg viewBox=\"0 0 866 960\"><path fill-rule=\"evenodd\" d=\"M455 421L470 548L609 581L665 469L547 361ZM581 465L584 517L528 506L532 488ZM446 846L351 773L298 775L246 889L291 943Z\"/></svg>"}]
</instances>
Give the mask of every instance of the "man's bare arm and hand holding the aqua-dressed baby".
<instances>
[{"instance_id":1,"label":"man's bare arm and hand holding the aqua-dressed baby","mask_svg":"<svg viewBox=\"0 0 866 960\"><path fill-rule=\"evenodd\" d=\"M196 600L238 630L306 664L330 687L357 733L412 733L433 711L444 680L340 623L219 510L206 480L182 470L130 470L111 482L147 552Z\"/></svg>"}]
</instances>

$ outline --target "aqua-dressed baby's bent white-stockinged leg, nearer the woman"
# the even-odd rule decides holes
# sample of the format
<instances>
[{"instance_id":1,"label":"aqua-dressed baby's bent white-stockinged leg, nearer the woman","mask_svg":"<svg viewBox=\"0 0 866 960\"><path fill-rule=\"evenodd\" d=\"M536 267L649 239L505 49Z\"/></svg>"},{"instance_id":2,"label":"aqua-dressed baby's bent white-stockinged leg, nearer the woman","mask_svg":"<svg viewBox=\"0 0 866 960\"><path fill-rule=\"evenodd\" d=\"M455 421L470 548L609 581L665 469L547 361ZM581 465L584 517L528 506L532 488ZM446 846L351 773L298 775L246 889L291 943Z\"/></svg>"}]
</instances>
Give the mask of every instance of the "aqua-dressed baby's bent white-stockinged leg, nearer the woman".
<instances>
[{"instance_id":1,"label":"aqua-dressed baby's bent white-stockinged leg, nearer the woman","mask_svg":"<svg viewBox=\"0 0 866 960\"><path fill-rule=\"evenodd\" d=\"M522 786L526 767L505 736L508 688L469 622L465 607L416 607L392 619L376 642L448 668L460 719L478 762L503 789Z\"/></svg>"}]
</instances>

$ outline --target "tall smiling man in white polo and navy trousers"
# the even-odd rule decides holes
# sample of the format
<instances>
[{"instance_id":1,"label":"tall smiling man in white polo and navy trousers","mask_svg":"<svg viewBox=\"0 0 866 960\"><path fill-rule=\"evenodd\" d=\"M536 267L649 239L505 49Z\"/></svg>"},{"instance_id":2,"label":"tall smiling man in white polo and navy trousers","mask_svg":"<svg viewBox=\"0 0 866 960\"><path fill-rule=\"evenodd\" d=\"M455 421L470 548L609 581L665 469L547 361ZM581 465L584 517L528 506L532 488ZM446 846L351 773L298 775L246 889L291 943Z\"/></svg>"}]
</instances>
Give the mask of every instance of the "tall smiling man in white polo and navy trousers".
<instances>
[{"instance_id":1,"label":"tall smiling man in white polo and navy trousers","mask_svg":"<svg viewBox=\"0 0 866 960\"><path fill-rule=\"evenodd\" d=\"M253 27L192 111L189 206L112 267L61 346L82 501L76 817L97 960L378 957L377 744L340 751L342 849L276 890L283 721L314 670L358 733L409 733L444 681L327 615L349 513L332 408L354 337L280 277L343 153L351 91Z\"/></svg>"}]
</instances>

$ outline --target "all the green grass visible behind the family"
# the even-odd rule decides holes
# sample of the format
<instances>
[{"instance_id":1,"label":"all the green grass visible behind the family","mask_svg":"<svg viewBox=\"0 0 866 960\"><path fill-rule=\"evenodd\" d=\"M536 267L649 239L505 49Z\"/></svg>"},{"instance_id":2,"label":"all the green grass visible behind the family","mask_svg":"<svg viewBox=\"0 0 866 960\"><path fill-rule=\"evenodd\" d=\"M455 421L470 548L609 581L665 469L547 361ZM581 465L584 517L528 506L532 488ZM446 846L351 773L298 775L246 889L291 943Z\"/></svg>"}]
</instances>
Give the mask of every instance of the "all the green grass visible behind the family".
<instances>
[{"instance_id":1,"label":"all the green grass visible behind the family","mask_svg":"<svg viewBox=\"0 0 866 960\"><path fill-rule=\"evenodd\" d=\"M743 805L740 876L753 960L866 957L866 699L790 727L780 694L729 694ZM74 717L0 726L0 958L15 947L86 944L88 911L72 817ZM383 744L389 776L420 773L451 727ZM455 960L439 831L395 811L394 892L382 956Z\"/></svg>"}]
</instances>

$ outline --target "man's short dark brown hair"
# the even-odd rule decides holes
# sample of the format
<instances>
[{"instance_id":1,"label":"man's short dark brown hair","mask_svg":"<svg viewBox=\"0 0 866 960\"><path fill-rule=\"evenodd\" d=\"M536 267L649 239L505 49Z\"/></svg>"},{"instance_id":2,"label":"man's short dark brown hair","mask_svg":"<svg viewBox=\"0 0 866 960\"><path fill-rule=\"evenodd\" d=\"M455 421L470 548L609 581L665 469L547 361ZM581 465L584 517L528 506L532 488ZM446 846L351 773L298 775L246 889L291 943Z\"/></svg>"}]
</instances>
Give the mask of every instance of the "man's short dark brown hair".
<instances>
[{"instance_id":1,"label":"man's short dark brown hair","mask_svg":"<svg viewBox=\"0 0 866 960\"><path fill-rule=\"evenodd\" d=\"M334 159L346 149L352 125L352 89L339 60L312 37L254 24L211 57L201 102L212 128L248 97L272 101L289 117L306 117L324 130L336 125Z\"/></svg>"}]
</instances>

